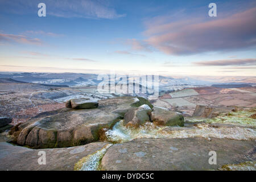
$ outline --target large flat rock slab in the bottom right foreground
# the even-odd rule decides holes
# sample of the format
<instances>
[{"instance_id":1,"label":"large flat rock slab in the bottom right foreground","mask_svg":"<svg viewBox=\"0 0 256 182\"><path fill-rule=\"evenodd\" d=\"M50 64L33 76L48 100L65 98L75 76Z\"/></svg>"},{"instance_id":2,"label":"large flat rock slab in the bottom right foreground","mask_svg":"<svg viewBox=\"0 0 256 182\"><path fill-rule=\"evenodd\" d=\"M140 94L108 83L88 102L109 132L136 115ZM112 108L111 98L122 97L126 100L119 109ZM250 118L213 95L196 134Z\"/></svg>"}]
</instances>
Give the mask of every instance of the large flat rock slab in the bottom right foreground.
<instances>
[{"instance_id":1,"label":"large flat rock slab in the bottom right foreground","mask_svg":"<svg viewBox=\"0 0 256 182\"><path fill-rule=\"evenodd\" d=\"M209 164L216 151L217 164ZM208 170L256 160L254 140L212 138L135 139L114 144L101 161L104 170Z\"/></svg>"}]
</instances>

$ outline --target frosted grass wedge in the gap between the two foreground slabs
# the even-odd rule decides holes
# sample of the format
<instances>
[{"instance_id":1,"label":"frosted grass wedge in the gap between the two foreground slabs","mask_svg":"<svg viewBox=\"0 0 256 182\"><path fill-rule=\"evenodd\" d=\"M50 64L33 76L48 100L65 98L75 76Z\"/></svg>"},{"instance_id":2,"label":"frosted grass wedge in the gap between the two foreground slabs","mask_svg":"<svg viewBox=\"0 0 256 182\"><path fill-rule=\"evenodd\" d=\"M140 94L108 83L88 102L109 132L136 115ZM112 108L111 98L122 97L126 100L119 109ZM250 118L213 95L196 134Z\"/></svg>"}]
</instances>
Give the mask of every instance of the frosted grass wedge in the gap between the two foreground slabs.
<instances>
[{"instance_id":1,"label":"frosted grass wedge in the gap between the two foreground slabs","mask_svg":"<svg viewBox=\"0 0 256 182\"><path fill-rule=\"evenodd\" d=\"M75 164L75 171L96 171L99 166L102 157L105 155L108 148L112 146L112 144L106 144L101 150L94 152L84 158L80 159L79 162Z\"/></svg>"}]
</instances>

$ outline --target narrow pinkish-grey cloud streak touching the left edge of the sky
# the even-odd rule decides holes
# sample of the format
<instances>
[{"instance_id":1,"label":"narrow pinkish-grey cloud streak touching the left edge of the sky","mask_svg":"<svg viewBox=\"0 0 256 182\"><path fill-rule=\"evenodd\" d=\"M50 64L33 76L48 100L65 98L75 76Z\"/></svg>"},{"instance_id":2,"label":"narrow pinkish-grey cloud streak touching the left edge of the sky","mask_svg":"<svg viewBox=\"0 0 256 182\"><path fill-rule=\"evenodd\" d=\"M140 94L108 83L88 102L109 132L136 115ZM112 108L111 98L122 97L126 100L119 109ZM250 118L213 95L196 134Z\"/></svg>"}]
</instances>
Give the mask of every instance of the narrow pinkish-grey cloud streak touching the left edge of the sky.
<instances>
[{"instance_id":1,"label":"narrow pinkish-grey cloud streak touching the left edge of the sky","mask_svg":"<svg viewBox=\"0 0 256 182\"><path fill-rule=\"evenodd\" d=\"M42 41L38 38L30 38L24 35L14 35L14 34L0 34L0 42L16 42L22 44L35 44L41 45Z\"/></svg>"}]
</instances>

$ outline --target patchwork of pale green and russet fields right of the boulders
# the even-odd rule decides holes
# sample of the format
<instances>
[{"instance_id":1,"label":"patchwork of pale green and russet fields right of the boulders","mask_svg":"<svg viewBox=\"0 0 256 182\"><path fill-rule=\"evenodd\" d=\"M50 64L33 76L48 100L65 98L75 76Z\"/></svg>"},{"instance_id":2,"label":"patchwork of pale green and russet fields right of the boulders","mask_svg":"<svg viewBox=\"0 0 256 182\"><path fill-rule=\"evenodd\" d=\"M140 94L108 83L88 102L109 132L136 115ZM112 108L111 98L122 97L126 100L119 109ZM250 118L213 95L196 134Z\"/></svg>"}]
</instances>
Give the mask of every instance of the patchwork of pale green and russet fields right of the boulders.
<instances>
[{"instance_id":1,"label":"patchwork of pale green and russet fields right of the boulders","mask_svg":"<svg viewBox=\"0 0 256 182\"><path fill-rule=\"evenodd\" d=\"M180 111L189 115L193 113L196 105L256 107L256 89L253 86L239 89L208 86L184 89L169 95L172 98L166 97L165 94L160 96L159 100L167 102L173 109L178 107Z\"/></svg>"}]
</instances>

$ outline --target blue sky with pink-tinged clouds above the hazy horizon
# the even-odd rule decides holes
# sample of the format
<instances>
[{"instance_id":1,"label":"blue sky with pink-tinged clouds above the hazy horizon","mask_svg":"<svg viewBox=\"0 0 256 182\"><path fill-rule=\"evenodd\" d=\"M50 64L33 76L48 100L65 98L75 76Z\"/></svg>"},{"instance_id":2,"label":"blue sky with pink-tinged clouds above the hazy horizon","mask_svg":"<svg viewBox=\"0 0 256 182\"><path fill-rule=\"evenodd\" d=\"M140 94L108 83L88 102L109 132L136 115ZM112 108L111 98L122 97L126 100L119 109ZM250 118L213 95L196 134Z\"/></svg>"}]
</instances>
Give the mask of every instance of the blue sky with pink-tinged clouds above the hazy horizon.
<instances>
[{"instance_id":1,"label":"blue sky with pink-tinged clouds above the hazy horizon","mask_svg":"<svg viewBox=\"0 0 256 182\"><path fill-rule=\"evenodd\" d=\"M0 71L256 76L256 2L0 0Z\"/></svg>"}]
</instances>

